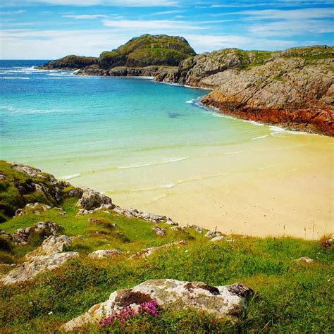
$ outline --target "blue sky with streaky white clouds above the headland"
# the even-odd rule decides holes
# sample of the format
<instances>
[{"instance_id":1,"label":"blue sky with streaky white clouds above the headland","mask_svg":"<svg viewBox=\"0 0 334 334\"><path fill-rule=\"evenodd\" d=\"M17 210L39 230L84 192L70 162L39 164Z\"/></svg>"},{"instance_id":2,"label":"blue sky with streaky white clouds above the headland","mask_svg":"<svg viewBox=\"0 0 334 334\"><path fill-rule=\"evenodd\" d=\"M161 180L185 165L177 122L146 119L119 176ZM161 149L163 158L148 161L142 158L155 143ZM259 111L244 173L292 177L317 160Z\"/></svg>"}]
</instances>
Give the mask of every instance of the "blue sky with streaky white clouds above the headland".
<instances>
[{"instance_id":1,"label":"blue sky with streaky white clouds above the headland","mask_svg":"<svg viewBox=\"0 0 334 334\"><path fill-rule=\"evenodd\" d=\"M2 0L0 58L99 56L132 37L178 35L197 53L334 41L334 0Z\"/></svg>"}]
</instances>

